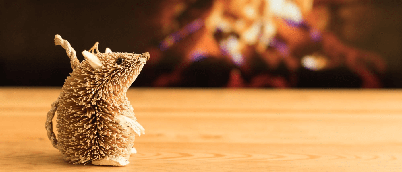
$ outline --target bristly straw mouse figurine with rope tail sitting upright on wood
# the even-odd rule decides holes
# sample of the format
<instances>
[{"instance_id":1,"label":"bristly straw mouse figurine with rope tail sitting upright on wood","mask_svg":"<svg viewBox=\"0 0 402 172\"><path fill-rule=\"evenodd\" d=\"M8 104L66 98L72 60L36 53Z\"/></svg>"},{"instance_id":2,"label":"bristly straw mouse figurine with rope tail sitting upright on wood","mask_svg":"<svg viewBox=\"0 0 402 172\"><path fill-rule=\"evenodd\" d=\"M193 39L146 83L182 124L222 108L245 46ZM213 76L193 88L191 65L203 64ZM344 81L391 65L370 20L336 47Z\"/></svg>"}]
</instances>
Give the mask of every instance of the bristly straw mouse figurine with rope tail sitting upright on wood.
<instances>
[{"instance_id":1,"label":"bristly straw mouse figurine with rope tail sitting upright on wood","mask_svg":"<svg viewBox=\"0 0 402 172\"><path fill-rule=\"evenodd\" d=\"M73 69L47 113L45 127L53 147L73 164L124 166L129 163L135 135L144 134L126 97L131 83L150 58L140 54L99 53L98 42L83 51L81 63L67 40L55 36ZM94 54L96 50L96 54ZM57 113L57 139L52 119Z\"/></svg>"}]
</instances>

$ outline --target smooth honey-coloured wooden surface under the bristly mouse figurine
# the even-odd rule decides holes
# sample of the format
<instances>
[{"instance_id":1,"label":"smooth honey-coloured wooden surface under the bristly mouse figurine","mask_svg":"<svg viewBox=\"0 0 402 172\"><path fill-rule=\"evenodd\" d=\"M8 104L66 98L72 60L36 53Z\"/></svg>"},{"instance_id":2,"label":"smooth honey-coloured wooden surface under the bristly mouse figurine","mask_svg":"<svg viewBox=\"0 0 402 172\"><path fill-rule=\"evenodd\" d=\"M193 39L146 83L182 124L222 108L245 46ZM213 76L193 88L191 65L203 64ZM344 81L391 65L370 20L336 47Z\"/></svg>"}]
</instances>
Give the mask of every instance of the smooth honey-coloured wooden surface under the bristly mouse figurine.
<instances>
[{"instance_id":1,"label":"smooth honey-coloured wooden surface under the bristly mouse figurine","mask_svg":"<svg viewBox=\"0 0 402 172\"><path fill-rule=\"evenodd\" d=\"M74 165L44 127L59 88L0 88L0 171L402 172L402 90L129 89L123 167Z\"/></svg>"}]
</instances>

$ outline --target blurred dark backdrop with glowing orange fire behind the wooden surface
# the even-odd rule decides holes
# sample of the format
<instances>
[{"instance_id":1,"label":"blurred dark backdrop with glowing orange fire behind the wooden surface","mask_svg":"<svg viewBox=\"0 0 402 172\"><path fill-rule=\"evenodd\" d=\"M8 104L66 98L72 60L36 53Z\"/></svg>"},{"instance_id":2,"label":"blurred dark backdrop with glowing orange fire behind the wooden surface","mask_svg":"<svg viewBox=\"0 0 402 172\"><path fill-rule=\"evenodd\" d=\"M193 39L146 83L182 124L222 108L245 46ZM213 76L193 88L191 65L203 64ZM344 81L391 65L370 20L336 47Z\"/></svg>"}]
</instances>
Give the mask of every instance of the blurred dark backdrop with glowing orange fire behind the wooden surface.
<instances>
[{"instance_id":1,"label":"blurred dark backdrop with glowing orange fire behind the wooden surface","mask_svg":"<svg viewBox=\"0 0 402 172\"><path fill-rule=\"evenodd\" d=\"M146 87L402 87L400 0L0 0L2 86L62 86L77 51L143 53Z\"/></svg>"}]
</instances>

